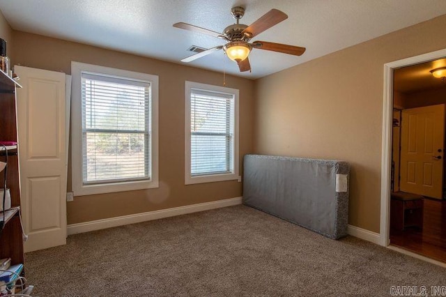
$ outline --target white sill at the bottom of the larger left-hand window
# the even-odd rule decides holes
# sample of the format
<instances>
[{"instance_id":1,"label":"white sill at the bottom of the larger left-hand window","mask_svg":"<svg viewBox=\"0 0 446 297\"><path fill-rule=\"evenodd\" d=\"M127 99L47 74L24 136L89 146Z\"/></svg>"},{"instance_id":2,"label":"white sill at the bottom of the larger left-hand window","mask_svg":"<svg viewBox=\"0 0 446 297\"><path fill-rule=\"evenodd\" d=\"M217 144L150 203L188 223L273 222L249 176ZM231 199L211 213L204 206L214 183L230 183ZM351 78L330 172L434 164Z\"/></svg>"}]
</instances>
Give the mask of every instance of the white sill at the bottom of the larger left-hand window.
<instances>
[{"instance_id":1,"label":"white sill at the bottom of the larger left-hand window","mask_svg":"<svg viewBox=\"0 0 446 297\"><path fill-rule=\"evenodd\" d=\"M75 196L107 194L159 188L157 181L126 181L123 183L100 183L97 185L73 185Z\"/></svg>"}]
</instances>

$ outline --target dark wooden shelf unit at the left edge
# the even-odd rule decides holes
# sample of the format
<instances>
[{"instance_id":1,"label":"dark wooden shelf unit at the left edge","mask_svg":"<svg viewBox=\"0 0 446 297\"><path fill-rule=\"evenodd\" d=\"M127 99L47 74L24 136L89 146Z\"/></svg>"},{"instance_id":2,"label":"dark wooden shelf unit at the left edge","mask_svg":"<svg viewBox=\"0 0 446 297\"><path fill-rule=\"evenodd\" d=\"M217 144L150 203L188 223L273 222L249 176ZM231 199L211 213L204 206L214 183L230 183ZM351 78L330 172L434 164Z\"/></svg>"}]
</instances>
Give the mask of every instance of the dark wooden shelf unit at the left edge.
<instances>
[{"instance_id":1,"label":"dark wooden shelf unit at the left edge","mask_svg":"<svg viewBox=\"0 0 446 297\"><path fill-rule=\"evenodd\" d=\"M0 70L0 141L17 142L17 108L15 89L19 87L14 79ZM0 160L6 160L6 151L0 151ZM4 172L0 172L0 185L4 183ZM6 184L10 189L10 211L5 211L6 220L0 232L0 259L11 258L11 265L24 263L22 224L20 223L20 176L17 148L8 150L8 176ZM3 197L1 197L3 199ZM0 212L3 220L3 212Z\"/></svg>"}]
</instances>

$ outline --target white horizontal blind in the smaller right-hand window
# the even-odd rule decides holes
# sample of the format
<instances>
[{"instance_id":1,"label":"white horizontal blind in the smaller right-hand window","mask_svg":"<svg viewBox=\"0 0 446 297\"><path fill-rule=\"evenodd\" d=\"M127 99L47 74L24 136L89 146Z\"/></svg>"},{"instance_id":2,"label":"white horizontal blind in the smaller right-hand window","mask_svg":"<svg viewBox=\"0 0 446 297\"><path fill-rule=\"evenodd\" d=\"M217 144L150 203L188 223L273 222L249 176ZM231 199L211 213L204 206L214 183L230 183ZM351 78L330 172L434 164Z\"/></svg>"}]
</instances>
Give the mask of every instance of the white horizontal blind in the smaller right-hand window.
<instances>
[{"instance_id":1,"label":"white horizontal blind in the smaller right-hand window","mask_svg":"<svg viewBox=\"0 0 446 297\"><path fill-rule=\"evenodd\" d=\"M233 172L234 96L191 89L191 176Z\"/></svg>"}]
</instances>

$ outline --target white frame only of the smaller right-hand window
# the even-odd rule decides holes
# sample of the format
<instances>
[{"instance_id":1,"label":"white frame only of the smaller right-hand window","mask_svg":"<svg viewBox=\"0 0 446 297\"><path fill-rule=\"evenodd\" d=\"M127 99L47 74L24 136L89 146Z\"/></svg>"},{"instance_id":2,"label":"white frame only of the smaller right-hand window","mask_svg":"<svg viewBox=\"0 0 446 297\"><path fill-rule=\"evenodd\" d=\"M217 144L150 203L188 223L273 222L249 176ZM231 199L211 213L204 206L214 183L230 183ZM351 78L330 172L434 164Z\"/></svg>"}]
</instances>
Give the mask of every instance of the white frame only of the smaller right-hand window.
<instances>
[{"instance_id":1,"label":"white frame only of the smaller right-hand window","mask_svg":"<svg viewBox=\"0 0 446 297\"><path fill-rule=\"evenodd\" d=\"M191 174L191 93L192 89L204 92L222 93L233 96L233 172L226 174L208 174L192 176ZM239 110L239 91L238 89L226 88L225 86L215 86L212 84L201 84L198 82L185 82L185 185L195 183L213 183L217 181L238 180L239 172L239 129L238 129L238 110Z\"/></svg>"}]
</instances>

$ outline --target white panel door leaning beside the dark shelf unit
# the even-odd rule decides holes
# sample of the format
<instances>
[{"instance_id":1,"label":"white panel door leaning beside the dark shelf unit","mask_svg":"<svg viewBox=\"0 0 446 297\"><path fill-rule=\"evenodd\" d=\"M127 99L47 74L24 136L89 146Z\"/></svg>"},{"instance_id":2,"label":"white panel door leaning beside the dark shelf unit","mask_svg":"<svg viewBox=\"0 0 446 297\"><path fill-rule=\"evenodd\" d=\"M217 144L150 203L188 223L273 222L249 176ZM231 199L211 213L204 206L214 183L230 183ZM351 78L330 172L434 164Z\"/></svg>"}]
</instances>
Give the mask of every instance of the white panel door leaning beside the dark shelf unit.
<instances>
[{"instance_id":1,"label":"white panel door leaning beside the dark shelf unit","mask_svg":"<svg viewBox=\"0 0 446 297\"><path fill-rule=\"evenodd\" d=\"M66 244L66 75L15 66L25 252Z\"/></svg>"}]
</instances>

